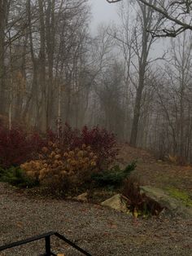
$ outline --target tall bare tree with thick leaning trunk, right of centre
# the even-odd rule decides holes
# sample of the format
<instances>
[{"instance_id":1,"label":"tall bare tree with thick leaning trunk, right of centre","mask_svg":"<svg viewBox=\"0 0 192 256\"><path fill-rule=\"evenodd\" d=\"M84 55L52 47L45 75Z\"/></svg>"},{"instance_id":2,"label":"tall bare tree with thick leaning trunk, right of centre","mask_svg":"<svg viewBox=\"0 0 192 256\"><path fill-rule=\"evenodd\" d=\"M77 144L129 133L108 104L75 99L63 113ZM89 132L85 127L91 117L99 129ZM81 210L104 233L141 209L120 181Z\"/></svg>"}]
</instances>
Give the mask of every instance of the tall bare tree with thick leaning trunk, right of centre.
<instances>
[{"instance_id":1,"label":"tall bare tree with thick leaning trunk, right of centre","mask_svg":"<svg viewBox=\"0 0 192 256\"><path fill-rule=\"evenodd\" d=\"M153 3L155 4L155 1ZM132 64L138 76L137 82L131 79L133 86L136 88L136 98L133 108L133 124L130 136L130 144L132 146L136 146L137 144L137 133L142 108L142 92L146 86L146 71L150 64L149 54L151 46L155 41L147 31L151 29L157 30L161 22L160 19L154 22L154 11L151 10L151 8L146 7L140 2L138 2L138 7L137 20L139 26L138 24L135 25L133 29L133 42L131 45L128 45L129 47L133 47L133 51L137 58L137 63L135 64L134 61L132 61ZM138 29L139 27L140 29Z\"/></svg>"}]
</instances>

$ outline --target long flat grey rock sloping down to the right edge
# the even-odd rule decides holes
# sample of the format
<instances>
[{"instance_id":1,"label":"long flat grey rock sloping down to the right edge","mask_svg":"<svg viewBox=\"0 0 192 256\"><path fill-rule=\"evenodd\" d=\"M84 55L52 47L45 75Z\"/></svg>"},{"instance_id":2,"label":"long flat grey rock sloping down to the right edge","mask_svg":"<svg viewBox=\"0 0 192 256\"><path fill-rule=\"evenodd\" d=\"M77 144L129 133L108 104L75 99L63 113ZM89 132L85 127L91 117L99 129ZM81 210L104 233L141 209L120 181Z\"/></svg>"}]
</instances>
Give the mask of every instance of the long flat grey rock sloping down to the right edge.
<instances>
[{"instance_id":1,"label":"long flat grey rock sloping down to the right edge","mask_svg":"<svg viewBox=\"0 0 192 256\"><path fill-rule=\"evenodd\" d=\"M168 195L168 193L164 192L162 189L145 186L141 187L141 192L158 202L159 205L166 209L168 214L180 215L184 218L192 217L191 207L186 207L182 201L172 198L172 196Z\"/></svg>"}]
</instances>

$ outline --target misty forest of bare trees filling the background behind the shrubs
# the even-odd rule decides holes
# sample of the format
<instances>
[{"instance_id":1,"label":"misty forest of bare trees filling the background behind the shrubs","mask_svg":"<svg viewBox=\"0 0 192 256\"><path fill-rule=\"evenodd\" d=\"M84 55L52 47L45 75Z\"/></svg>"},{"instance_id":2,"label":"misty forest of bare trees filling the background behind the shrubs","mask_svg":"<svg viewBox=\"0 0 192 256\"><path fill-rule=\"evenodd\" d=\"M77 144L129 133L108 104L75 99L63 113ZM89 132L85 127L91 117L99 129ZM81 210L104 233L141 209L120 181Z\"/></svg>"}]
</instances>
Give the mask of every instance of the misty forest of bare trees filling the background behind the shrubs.
<instances>
[{"instance_id":1,"label":"misty forest of bare trees filling the background behind the shrubs","mask_svg":"<svg viewBox=\"0 0 192 256\"><path fill-rule=\"evenodd\" d=\"M86 0L1 1L1 10L1 121L99 125L158 157L192 161L190 31L161 50L162 15L137 1L122 2L118 24L94 36Z\"/></svg>"}]
</instances>

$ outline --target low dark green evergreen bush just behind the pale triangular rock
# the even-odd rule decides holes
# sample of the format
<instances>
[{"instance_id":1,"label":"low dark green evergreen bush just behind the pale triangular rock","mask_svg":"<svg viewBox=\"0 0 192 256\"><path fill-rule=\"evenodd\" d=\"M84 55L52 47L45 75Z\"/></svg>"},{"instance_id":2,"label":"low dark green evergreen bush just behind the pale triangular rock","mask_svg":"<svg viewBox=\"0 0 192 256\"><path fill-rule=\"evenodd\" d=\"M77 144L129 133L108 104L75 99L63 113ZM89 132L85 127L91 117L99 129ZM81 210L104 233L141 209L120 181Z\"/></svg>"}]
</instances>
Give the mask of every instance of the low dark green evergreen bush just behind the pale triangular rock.
<instances>
[{"instance_id":1,"label":"low dark green evergreen bush just behind the pale triangular rock","mask_svg":"<svg viewBox=\"0 0 192 256\"><path fill-rule=\"evenodd\" d=\"M123 170L120 166L113 166L110 170L100 171L92 175L96 186L98 187L111 187L118 188L122 185L124 179L126 179L129 174L135 170L136 161L133 161L129 166L126 166Z\"/></svg>"}]
</instances>

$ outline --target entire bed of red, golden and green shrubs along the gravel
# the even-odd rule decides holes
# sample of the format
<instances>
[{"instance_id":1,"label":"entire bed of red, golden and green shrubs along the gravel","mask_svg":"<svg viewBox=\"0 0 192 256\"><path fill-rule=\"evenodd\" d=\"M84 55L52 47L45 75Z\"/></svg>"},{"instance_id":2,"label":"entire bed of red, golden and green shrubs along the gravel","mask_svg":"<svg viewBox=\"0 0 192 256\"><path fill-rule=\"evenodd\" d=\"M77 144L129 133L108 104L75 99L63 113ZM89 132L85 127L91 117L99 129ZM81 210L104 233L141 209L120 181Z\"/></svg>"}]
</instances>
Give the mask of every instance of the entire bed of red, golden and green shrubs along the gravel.
<instances>
[{"instance_id":1,"label":"entire bed of red, golden and green shrubs along the gravel","mask_svg":"<svg viewBox=\"0 0 192 256\"><path fill-rule=\"evenodd\" d=\"M65 195L99 186L107 175L107 185L120 185L129 172L111 167L117 153L115 135L98 126L76 130L65 124L59 135L0 127L0 179L20 187L41 185Z\"/></svg>"}]
</instances>

